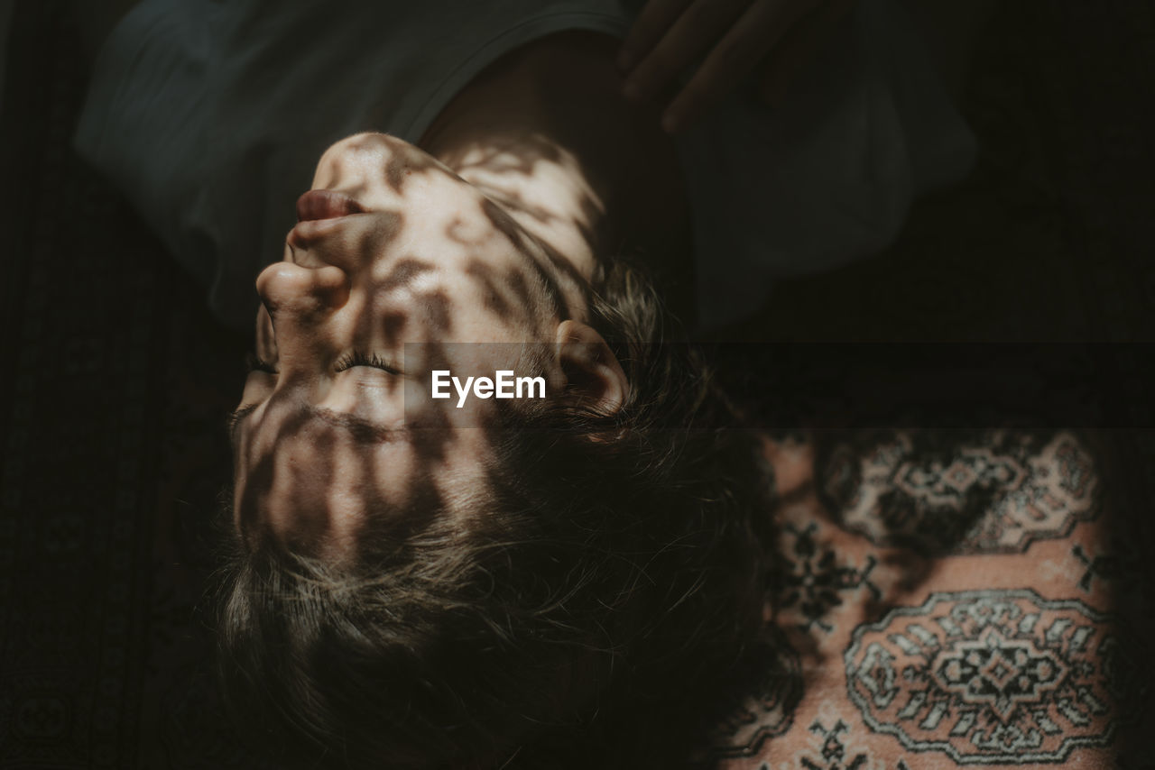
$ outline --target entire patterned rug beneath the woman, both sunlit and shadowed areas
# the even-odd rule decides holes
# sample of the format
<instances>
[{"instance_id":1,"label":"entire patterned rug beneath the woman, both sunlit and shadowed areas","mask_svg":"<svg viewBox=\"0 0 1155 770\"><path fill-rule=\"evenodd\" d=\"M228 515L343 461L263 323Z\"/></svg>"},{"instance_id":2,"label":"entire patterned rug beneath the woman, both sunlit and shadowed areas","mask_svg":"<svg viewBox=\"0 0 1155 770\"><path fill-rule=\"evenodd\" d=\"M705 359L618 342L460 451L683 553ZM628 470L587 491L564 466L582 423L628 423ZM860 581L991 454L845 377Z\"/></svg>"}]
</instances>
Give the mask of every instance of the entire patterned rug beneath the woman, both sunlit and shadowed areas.
<instances>
[{"instance_id":1,"label":"entire patterned rug beneath the woman, both sunlit and shadowed areas","mask_svg":"<svg viewBox=\"0 0 1155 770\"><path fill-rule=\"evenodd\" d=\"M70 154L75 43L59 3L16 3L0 768L268 767L221 717L202 610L247 342ZM1152 50L1149 3L1006 3L969 95L975 175L887 254L781 286L758 335L1155 339ZM715 731L723 767L1152 767L1155 435L843 431L768 453L775 622Z\"/></svg>"}]
</instances>

